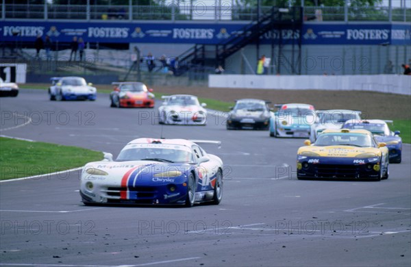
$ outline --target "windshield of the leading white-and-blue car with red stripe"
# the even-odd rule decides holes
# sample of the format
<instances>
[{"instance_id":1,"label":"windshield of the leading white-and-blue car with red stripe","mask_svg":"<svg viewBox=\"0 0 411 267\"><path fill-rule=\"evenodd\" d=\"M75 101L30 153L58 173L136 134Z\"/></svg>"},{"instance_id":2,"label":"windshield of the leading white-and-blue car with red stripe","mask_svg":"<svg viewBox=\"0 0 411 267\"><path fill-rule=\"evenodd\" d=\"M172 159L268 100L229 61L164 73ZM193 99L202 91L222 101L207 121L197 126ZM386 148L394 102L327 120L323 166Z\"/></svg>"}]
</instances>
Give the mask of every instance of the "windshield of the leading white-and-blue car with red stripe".
<instances>
[{"instance_id":1,"label":"windshield of the leading white-and-blue car with red stripe","mask_svg":"<svg viewBox=\"0 0 411 267\"><path fill-rule=\"evenodd\" d=\"M192 154L189 151L179 149L162 148L131 148L123 149L117 157L117 162L129 160L154 160L159 162L192 162Z\"/></svg>"}]
</instances>

